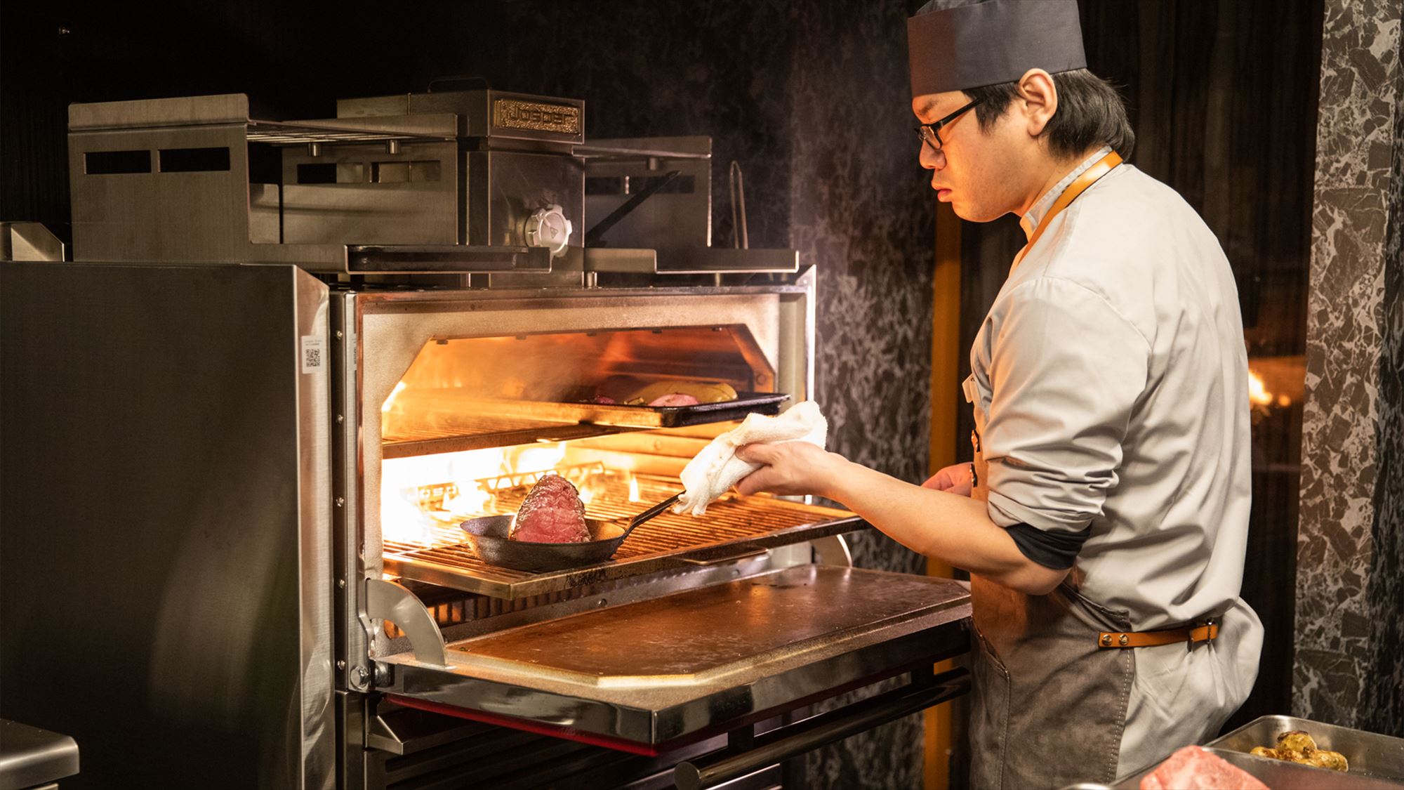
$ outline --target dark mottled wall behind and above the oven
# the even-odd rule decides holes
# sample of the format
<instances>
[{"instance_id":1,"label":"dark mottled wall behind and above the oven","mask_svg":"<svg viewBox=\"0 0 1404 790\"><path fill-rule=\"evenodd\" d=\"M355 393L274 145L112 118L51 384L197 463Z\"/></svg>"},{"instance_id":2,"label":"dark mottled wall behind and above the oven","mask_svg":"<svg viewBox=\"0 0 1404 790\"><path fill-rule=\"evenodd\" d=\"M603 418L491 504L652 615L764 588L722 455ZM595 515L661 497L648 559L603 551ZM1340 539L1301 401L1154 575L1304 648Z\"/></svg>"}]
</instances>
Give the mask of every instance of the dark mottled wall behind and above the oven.
<instances>
[{"instance_id":1,"label":"dark mottled wall behind and above the oven","mask_svg":"<svg viewBox=\"0 0 1404 790\"><path fill-rule=\"evenodd\" d=\"M906 18L918 0L479 0L455 4L3 4L0 218L67 222L66 105L247 93L264 119L446 75L585 100L587 138L710 135L713 243L819 266L817 396L831 448L927 471L932 207L915 163ZM66 32L65 32L66 31ZM62 231L62 228L60 228ZM922 572L882 536L858 565ZM804 758L796 786L915 787L920 717Z\"/></svg>"}]
</instances>

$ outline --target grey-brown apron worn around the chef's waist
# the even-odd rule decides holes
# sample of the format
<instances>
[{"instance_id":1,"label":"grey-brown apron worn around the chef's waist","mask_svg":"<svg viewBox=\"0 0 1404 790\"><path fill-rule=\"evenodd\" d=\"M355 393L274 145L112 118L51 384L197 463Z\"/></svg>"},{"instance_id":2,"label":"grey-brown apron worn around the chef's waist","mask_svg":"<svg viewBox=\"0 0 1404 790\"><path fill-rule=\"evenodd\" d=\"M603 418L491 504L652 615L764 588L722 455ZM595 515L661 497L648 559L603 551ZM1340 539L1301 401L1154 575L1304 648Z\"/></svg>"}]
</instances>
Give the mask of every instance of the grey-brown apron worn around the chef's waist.
<instances>
[{"instance_id":1,"label":"grey-brown apron worn around the chef's waist","mask_svg":"<svg viewBox=\"0 0 1404 790\"><path fill-rule=\"evenodd\" d=\"M972 440L970 496L987 502L987 464L979 434ZM1087 600L1070 582L1033 596L970 575L972 787L1029 790L1116 777L1134 656L1098 648L1097 637L1133 628L1125 611Z\"/></svg>"}]
</instances>

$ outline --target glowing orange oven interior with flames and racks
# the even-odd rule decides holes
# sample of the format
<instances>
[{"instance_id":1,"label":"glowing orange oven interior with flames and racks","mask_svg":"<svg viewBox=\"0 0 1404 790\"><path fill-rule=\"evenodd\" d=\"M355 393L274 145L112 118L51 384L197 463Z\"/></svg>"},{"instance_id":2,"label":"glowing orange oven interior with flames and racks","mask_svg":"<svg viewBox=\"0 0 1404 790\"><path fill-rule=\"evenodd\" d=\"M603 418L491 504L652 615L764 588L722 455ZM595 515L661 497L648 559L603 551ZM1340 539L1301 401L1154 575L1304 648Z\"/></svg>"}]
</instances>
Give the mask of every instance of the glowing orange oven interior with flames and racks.
<instances>
[{"instance_id":1,"label":"glowing orange oven interior with flames and racks","mask_svg":"<svg viewBox=\"0 0 1404 790\"><path fill-rule=\"evenodd\" d=\"M774 382L774 370L743 326L431 340L380 409L385 571L498 599L569 595L580 582L570 572L531 574L484 562L459 524L515 513L546 474L576 485L587 517L635 516L681 491L684 465L734 427L746 403L778 410L782 398ZM716 387L736 398L630 405L639 394L708 394ZM834 534L842 531L835 520L847 516L729 493L702 517L670 512L640 526L615 552L609 572L591 578Z\"/></svg>"}]
</instances>

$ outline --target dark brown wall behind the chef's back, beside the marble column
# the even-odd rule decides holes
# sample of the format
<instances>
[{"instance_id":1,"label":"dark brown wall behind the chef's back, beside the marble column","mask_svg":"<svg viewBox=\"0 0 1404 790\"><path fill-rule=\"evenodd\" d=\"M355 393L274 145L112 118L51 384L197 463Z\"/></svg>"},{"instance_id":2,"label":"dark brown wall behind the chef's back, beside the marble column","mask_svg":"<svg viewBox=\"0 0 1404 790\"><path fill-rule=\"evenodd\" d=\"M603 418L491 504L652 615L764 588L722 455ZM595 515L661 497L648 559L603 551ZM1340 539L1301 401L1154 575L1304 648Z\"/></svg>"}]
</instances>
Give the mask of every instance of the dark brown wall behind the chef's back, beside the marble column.
<instances>
[{"instance_id":1,"label":"dark brown wall behind the chef's back, beside the marble column","mask_svg":"<svg viewBox=\"0 0 1404 790\"><path fill-rule=\"evenodd\" d=\"M1233 727L1290 707L1321 0L1081 0L1081 15L1088 67L1127 100L1130 163L1174 187L1219 238L1250 365L1289 399L1254 413L1243 596L1266 634L1258 685ZM1022 246L1012 216L962 225L963 347ZM969 436L970 417L960 419L956 436Z\"/></svg>"}]
</instances>

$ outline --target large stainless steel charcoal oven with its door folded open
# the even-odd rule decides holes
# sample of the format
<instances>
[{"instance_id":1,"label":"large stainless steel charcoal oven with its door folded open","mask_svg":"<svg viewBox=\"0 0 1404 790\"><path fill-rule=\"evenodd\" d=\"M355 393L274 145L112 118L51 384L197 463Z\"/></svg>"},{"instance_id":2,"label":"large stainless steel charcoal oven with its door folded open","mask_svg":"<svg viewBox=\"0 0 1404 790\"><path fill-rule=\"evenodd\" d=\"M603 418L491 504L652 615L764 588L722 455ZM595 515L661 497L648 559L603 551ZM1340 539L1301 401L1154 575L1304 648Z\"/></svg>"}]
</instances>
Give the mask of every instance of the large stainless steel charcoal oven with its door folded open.
<instances>
[{"instance_id":1,"label":"large stainless steel charcoal oven with its door folded open","mask_svg":"<svg viewBox=\"0 0 1404 790\"><path fill-rule=\"evenodd\" d=\"M580 103L519 96L556 107L539 117L557 127L500 141L480 124L496 98L351 101L345 118L281 125L240 118L229 97L74 108L79 163L142 146L160 163L195 148L183 135L218 148L237 132L215 164L278 145L289 179L309 156L365 179L243 183L249 224L185 224L192 238L173 240L168 202L122 201L166 194L152 181L170 177L202 216L243 173L79 171L74 254L93 260L0 270L4 464L22 492L6 502L0 606L25 634L4 644L0 713L73 732L86 760L91 741L84 777L125 770L154 737L180 746L170 775L260 786L771 786L782 760L966 687L931 673L966 649L965 589L852 568L842 534L868 526L844 510L729 495L705 517L642 526L595 566L529 574L475 555L458 522L514 512L542 474L573 479L592 517L629 516L675 493L746 410L813 396L816 271L792 250L578 246L581 205L618 205L630 177L661 169L694 177L615 238L688 226L705 245L706 145L591 149L560 139ZM491 200L472 176L489 152L508 155ZM434 156L428 183L456 186L416 193L413 173L435 170L421 164L378 191L366 173L385 156ZM571 197L592 173L605 184L591 201ZM376 224L404 195L445 201L442 235ZM355 236L355 211L380 235ZM542 211L570 218L566 245L542 246ZM289 224L299 239L272 240ZM20 370L46 374L20 384ZM597 402L658 381L724 382L751 406ZM105 517L60 523L65 491ZM114 589L128 595L97 631L117 661L94 669L93 640L55 613ZM97 697L140 732L95 725L81 703Z\"/></svg>"}]
</instances>

